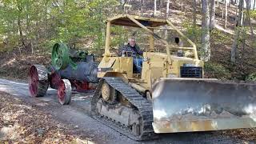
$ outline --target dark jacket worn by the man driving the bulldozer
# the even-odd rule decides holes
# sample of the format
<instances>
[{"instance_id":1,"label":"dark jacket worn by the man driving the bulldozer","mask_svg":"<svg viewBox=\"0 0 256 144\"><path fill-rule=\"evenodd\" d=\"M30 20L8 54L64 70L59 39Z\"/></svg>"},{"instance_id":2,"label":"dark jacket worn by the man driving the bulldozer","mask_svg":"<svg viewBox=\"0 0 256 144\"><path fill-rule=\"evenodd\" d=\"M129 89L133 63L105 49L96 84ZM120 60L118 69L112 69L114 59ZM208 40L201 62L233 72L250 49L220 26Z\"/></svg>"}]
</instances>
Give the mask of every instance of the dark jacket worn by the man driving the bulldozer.
<instances>
[{"instance_id":1,"label":"dark jacket worn by the man driving the bulldozer","mask_svg":"<svg viewBox=\"0 0 256 144\"><path fill-rule=\"evenodd\" d=\"M126 52L132 52L132 53L127 53L128 54L126 55L127 57L134 57L134 56L143 54L143 51L140 50L138 45L130 46L129 43L126 46L122 47L122 50L119 51L119 55L121 56L122 54L126 54Z\"/></svg>"}]
</instances>

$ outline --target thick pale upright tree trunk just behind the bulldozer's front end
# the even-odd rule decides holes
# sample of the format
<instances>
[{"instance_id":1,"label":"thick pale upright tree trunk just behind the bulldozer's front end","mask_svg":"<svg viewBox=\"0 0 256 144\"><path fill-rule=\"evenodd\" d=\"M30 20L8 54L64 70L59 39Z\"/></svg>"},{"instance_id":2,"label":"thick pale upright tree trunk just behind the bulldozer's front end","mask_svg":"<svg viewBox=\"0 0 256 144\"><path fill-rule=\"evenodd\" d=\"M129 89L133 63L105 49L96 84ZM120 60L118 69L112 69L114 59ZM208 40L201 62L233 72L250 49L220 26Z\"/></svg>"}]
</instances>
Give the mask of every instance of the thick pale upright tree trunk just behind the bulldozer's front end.
<instances>
[{"instance_id":1,"label":"thick pale upright tree trunk just behind the bulldozer's front end","mask_svg":"<svg viewBox=\"0 0 256 144\"><path fill-rule=\"evenodd\" d=\"M202 0L202 60L210 60L210 10L209 0Z\"/></svg>"}]
</instances>

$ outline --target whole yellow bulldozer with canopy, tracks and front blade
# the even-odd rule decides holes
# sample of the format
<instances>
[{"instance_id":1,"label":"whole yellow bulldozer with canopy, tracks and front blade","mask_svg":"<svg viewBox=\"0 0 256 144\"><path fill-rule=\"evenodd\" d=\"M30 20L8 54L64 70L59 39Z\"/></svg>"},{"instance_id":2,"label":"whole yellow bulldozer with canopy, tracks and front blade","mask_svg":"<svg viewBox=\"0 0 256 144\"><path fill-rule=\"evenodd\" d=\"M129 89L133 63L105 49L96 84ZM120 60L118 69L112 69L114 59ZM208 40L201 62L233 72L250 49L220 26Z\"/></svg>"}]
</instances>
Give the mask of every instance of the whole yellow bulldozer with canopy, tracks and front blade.
<instances>
[{"instance_id":1,"label":"whole yellow bulldozer with canopy, tracks and front blade","mask_svg":"<svg viewBox=\"0 0 256 144\"><path fill-rule=\"evenodd\" d=\"M149 34L141 74L134 73L133 57L110 51L111 26L137 27ZM154 33L164 26L190 46L171 46ZM154 40L162 42L165 52L156 50ZM180 50L190 51L190 56L178 55ZM127 14L109 18L91 110L99 121L135 140L160 133L255 127L256 85L203 78L203 65L194 42L169 20Z\"/></svg>"}]
</instances>

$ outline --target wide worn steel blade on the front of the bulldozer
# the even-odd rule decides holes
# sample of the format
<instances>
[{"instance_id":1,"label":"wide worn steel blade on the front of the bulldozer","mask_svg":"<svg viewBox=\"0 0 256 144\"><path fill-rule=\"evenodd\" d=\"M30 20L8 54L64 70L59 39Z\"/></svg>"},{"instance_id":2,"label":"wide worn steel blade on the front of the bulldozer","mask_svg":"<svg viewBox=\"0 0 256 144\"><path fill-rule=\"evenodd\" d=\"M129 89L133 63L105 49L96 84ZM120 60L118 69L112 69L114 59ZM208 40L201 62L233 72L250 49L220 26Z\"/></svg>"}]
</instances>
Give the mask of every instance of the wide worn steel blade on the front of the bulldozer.
<instances>
[{"instance_id":1,"label":"wide worn steel blade on the front of the bulldozer","mask_svg":"<svg viewBox=\"0 0 256 144\"><path fill-rule=\"evenodd\" d=\"M153 86L155 133L256 127L256 84L162 78Z\"/></svg>"}]
</instances>

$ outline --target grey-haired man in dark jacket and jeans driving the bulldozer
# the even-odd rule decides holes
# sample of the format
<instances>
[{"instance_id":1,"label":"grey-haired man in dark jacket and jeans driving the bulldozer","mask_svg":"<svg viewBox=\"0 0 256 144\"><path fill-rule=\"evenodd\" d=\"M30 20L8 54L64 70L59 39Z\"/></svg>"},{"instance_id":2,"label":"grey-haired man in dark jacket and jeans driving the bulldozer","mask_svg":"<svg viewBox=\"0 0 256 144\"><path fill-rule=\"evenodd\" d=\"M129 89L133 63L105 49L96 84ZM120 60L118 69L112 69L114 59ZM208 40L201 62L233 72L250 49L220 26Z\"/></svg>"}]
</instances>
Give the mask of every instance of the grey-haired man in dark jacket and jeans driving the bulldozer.
<instances>
[{"instance_id":1,"label":"grey-haired man in dark jacket and jeans driving the bulldozer","mask_svg":"<svg viewBox=\"0 0 256 144\"><path fill-rule=\"evenodd\" d=\"M129 38L128 44L124 46L121 50L122 56L133 57L134 58L134 72L142 73L142 50L140 50L139 46L136 44L135 38Z\"/></svg>"}]
</instances>

